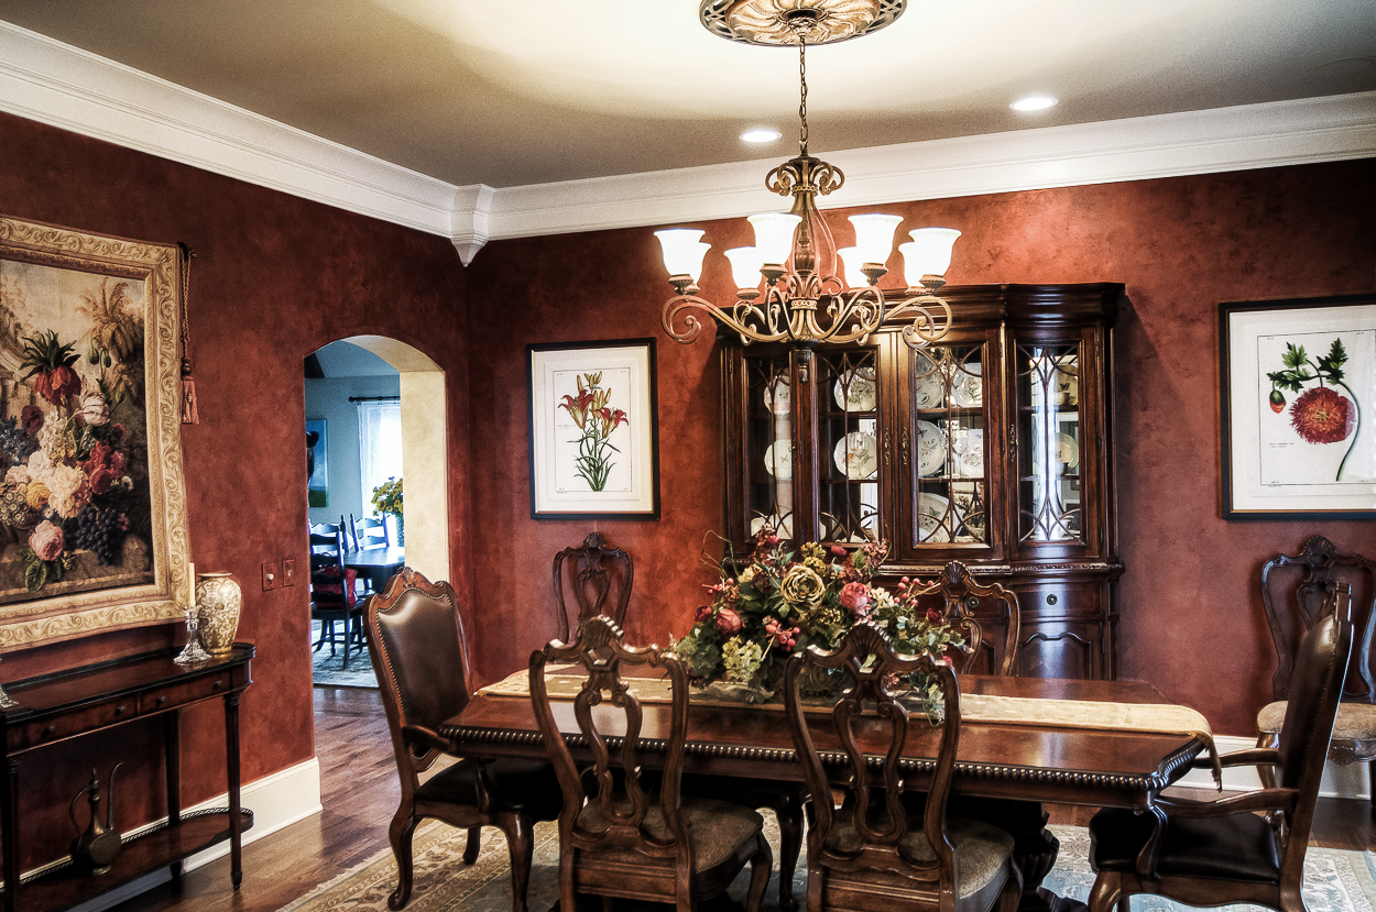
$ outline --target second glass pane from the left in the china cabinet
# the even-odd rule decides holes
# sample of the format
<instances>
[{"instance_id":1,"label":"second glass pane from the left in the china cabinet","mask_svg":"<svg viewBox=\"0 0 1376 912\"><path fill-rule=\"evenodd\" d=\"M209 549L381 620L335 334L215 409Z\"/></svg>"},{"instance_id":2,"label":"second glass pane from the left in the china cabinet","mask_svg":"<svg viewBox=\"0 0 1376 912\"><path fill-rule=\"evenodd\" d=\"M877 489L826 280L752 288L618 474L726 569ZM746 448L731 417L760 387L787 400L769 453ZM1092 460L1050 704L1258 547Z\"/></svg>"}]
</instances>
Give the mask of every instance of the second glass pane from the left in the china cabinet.
<instances>
[{"instance_id":1,"label":"second glass pane from the left in the china cabinet","mask_svg":"<svg viewBox=\"0 0 1376 912\"><path fill-rule=\"evenodd\" d=\"M843 543L883 538L878 352L819 351L812 374L819 538Z\"/></svg>"}]
</instances>

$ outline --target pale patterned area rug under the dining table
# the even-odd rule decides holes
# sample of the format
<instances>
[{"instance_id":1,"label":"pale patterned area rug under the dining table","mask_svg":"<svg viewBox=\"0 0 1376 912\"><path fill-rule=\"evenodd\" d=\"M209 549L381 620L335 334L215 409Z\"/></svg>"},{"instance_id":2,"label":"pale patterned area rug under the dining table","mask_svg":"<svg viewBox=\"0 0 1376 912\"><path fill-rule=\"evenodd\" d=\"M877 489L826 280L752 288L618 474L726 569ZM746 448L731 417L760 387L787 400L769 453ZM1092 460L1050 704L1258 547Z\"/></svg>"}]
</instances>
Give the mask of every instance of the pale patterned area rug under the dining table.
<instances>
[{"instance_id":1,"label":"pale patterned area rug under the dining table","mask_svg":"<svg viewBox=\"0 0 1376 912\"><path fill-rule=\"evenodd\" d=\"M769 838L779 854L777 829L765 814ZM1047 889L1086 901L1094 875L1086 861L1088 831L1083 827L1051 827L1061 840L1055 868L1043 882ZM407 912L509 912L510 873L506 867L506 842L501 831L483 829L483 847L472 867L462 864L465 835L442 823L431 821L416 834L416 880ZM535 858L530 875L530 908L548 909L559 900L559 832L555 824L535 825ZM1310 912L1373 912L1376 879L1369 851L1310 849L1304 858L1304 900ZM777 875L775 875L777 878ZM731 894L744 898L747 875L743 873ZM806 895L806 871L798 867L794 894ZM772 880L765 894L765 909L779 908L777 884ZM384 850L356 868L341 873L282 912L385 912L387 897L396 889L396 864L391 850ZM600 908L600 906L597 906ZM629 904L618 904L618 909ZM1258 906L1225 906L1234 911ZM1132 897L1132 912L1187 912L1157 897Z\"/></svg>"}]
</instances>

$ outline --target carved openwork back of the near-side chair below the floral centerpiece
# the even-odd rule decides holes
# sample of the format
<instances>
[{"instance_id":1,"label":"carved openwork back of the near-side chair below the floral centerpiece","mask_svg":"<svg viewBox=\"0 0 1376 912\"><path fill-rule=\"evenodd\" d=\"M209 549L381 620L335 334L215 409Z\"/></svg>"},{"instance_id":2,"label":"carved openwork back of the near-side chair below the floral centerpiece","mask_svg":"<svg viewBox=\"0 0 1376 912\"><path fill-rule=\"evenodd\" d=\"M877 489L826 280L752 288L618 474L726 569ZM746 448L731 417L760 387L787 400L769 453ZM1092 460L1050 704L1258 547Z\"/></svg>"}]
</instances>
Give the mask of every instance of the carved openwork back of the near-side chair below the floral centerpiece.
<instances>
[{"instance_id":1,"label":"carved openwork back of the near-side chair below the floral centerpiece","mask_svg":"<svg viewBox=\"0 0 1376 912\"><path fill-rule=\"evenodd\" d=\"M849 794L841 809L832 806L834 777L823 766L799 695L802 675L809 669L849 675L849 691L831 711L849 776ZM890 689L894 681L914 674L925 675L940 693L944 719L937 726L923 711L911 711ZM940 880L943 893L954 902L955 849L947 834L945 809L960 739L960 688L955 671L926 655L894 655L883 629L867 620L854 625L832 652L809 647L794 653L784 667L783 688L788 725L813 795L809 865L872 867L918 880ZM911 725L910 715L916 715ZM903 763L910 741L922 737L934 740L930 776L926 769L905 770ZM826 747L835 750L830 743ZM875 763L874 758L883 759ZM922 832L934 858L916 857L911 851L914 840L905 839L908 814L903 792L910 784L927 794Z\"/></svg>"}]
</instances>

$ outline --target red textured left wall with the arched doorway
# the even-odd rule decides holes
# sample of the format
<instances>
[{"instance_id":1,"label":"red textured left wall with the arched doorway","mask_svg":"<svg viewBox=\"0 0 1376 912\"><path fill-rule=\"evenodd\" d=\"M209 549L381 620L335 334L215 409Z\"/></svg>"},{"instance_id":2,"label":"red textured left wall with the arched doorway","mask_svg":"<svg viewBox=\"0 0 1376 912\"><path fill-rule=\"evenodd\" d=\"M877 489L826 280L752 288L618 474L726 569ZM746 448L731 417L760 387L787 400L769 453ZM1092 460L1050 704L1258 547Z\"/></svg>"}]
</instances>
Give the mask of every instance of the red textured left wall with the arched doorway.
<instances>
[{"instance_id":1,"label":"red textured left wall with the arched doorway","mask_svg":"<svg viewBox=\"0 0 1376 912\"><path fill-rule=\"evenodd\" d=\"M263 593L260 564L305 564L301 359L356 334L389 336L429 355L451 402L466 398L464 270L440 237L387 224L197 168L0 114L0 212L84 231L182 241L191 268L190 327L201 424L183 426L191 558L244 586L239 638L257 645L241 704L244 780L310 759L314 750L310 612L304 586ZM466 459L466 422L449 422L450 461ZM469 576L468 475L450 481L453 575ZM461 591L462 586L461 586ZM91 637L4 656L0 680L172 640L168 626ZM94 761L135 761L160 744L157 725L129 725L50 748L23 768L26 807L65 807ZM183 791L193 803L224 790L223 710L183 721ZM83 773L83 770L85 770ZM117 823L164 813L160 768L120 772ZM29 862L66 851L66 814L26 831Z\"/></svg>"}]
</instances>

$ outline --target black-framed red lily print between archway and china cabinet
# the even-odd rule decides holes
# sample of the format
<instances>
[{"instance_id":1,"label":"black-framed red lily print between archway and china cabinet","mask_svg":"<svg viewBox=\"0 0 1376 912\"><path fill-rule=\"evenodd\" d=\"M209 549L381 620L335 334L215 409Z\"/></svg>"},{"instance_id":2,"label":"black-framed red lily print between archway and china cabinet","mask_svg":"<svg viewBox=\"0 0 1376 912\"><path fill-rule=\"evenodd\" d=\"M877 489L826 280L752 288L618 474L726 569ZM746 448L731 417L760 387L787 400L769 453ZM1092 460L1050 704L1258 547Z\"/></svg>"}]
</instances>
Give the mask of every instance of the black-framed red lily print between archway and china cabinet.
<instances>
[{"instance_id":1,"label":"black-framed red lily print between archway and china cabinet","mask_svg":"<svg viewBox=\"0 0 1376 912\"><path fill-rule=\"evenodd\" d=\"M655 340L528 345L531 519L659 519Z\"/></svg>"}]
</instances>

